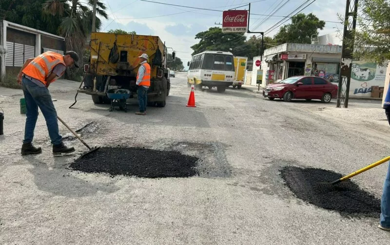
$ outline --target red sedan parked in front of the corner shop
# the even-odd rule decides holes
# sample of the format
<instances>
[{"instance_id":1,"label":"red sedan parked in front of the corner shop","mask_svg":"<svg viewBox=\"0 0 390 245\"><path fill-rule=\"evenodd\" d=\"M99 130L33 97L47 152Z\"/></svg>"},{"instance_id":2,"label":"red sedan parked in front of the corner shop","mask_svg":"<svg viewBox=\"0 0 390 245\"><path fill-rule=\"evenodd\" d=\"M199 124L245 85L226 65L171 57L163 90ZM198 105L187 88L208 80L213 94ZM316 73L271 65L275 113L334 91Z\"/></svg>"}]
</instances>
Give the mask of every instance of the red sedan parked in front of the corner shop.
<instances>
[{"instance_id":1,"label":"red sedan parked in front of the corner shop","mask_svg":"<svg viewBox=\"0 0 390 245\"><path fill-rule=\"evenodd\" d=\"M329 103L337 97L337 85L317 76L292 76L265 87L263 96L288 102L292 99L320 99Z\"/></svg>"}]
</instances>

